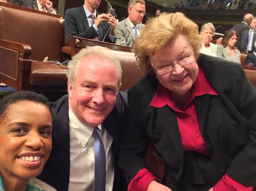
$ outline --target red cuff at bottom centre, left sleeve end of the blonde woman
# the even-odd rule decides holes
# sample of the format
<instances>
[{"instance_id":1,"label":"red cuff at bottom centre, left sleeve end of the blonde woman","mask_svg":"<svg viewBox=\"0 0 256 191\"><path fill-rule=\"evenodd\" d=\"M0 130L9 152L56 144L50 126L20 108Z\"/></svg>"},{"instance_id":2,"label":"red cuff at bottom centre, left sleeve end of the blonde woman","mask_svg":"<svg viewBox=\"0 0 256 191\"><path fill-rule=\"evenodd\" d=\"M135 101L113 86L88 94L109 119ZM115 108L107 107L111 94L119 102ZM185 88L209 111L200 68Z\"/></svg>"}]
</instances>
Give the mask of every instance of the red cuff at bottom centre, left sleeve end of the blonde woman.
<instances>
[{"instance_id":1,"label":"red cuff at bottom centre, left sleeve end of the blonde woman","mask_svg":"<svg viewBox=\"0 0 256 191\"><path fill-rule=\"evenodd\" d=\"M141 169L128 185L128 191L146 191L148 184L156 180L154 175L147 169Z\"/></svg>"}]
</instances>

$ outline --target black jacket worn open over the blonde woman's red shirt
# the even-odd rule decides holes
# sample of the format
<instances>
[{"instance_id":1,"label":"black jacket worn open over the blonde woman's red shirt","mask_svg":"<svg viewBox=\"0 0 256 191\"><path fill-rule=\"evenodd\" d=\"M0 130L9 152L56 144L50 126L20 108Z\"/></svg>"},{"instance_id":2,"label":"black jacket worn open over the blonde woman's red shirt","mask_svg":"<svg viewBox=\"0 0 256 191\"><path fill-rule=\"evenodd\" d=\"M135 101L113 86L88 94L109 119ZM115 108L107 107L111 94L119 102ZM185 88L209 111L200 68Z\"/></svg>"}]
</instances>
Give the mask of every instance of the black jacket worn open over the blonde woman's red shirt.
<instances>
[{"instance_id":1,"label":"black jacket worn open over the blonde woman's red shirt","mask_svg":"<svg viewBox=\"0 0 256 191\"><path fill-rule=\"evenodd\" d=\"M211 160L220 174L256 187L256 90L239 64L203 54L197 63L218 94L193 100ZM164 184L179 191L184 171L181 135L174 110L150 106L156 83L156 77L146 75L128 91L131 119L118 164L129 183L140 169L147 169L143 152L149 140L167 162Z\"/></svg>"}]
</instances>

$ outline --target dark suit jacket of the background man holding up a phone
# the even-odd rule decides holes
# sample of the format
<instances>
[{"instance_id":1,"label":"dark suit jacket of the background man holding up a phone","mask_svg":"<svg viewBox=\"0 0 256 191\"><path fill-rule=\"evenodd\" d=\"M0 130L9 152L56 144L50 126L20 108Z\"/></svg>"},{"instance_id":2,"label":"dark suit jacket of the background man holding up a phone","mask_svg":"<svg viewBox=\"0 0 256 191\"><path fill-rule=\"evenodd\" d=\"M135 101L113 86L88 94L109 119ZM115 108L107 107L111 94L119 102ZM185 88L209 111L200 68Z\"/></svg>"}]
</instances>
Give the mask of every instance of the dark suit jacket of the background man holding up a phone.
<instances>
[{"instance_id":1,"label":"dark suit jacket of the background man holding up a phone","mask_svg":"<svg viewBox=\"0 0 256 191\"><path fill-rule=\"evenodd\" d=\"M96 15L98 14L100 13L97 12ZM94 39L95 37L99 36L100 41L102 41L109 30L109 24L106 21L103 21L98 27L98 29L99 34L95 31L93 26L89 27L87 16L83 6L66 10L65 31L68 36L68 39L70 39L71 36L77 36L88 39ZM112 42L109 38L109 33L110 30L106 35L104 42Z\"/></svg>"}]
</instances>

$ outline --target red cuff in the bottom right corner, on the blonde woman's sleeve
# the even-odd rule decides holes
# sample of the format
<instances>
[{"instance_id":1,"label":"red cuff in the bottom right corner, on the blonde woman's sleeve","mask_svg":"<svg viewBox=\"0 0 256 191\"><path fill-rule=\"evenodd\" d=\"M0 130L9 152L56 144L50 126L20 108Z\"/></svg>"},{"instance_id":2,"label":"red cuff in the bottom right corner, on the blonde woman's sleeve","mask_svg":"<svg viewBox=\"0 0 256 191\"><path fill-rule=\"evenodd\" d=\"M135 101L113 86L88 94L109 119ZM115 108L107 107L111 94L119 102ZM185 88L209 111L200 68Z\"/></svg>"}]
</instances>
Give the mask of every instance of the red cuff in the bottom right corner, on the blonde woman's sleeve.
<instances>
[{"instance_id":1,"label":"red cuff in the bottom right corner, on the blonde woman's sleeve","mask_svg":"<svg viewBox=\"0 0 256 191\"><path fill-rule=\"evenodd\" d=\"M222 179L215 184L213 191L252 191L253 187L246 187L225 174Z\"/></svg>"}]
</instances>

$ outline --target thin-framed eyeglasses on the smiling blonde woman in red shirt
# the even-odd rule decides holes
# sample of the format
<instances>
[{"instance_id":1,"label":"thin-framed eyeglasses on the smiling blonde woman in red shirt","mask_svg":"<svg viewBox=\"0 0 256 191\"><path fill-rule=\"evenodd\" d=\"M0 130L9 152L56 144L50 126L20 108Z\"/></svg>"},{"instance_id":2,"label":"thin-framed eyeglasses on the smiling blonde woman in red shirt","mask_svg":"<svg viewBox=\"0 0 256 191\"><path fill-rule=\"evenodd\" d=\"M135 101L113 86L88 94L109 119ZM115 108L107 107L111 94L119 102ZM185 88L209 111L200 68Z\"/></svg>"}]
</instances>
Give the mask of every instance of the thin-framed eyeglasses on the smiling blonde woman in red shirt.
<instances>
[{"instance_id":1,"label":"thin-framed eyeglasses on the smiling blonde woman in red shirt","mask_svg":"<svg viewBox=\"0 0 256 191\"><path fill-rule=\"evenodd\" d=\"M174 62L171 64L164 64L161 67L158 67L157 69L153 68L153 70L155 72L158 72L160 75L164 75L164 74L172 72L175 64L179 64L180 66L184 67L184 66L191 64L194 60L195 60L194 53L187 54L185 56L182 56L177 62Z\"/></svg>"}]
</instances>

